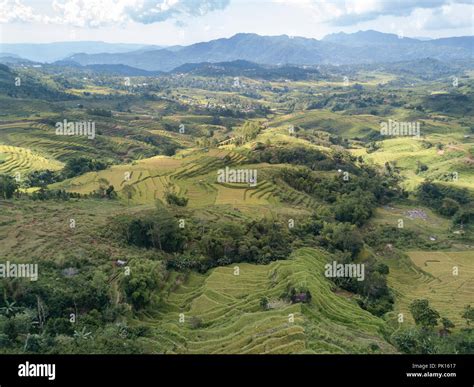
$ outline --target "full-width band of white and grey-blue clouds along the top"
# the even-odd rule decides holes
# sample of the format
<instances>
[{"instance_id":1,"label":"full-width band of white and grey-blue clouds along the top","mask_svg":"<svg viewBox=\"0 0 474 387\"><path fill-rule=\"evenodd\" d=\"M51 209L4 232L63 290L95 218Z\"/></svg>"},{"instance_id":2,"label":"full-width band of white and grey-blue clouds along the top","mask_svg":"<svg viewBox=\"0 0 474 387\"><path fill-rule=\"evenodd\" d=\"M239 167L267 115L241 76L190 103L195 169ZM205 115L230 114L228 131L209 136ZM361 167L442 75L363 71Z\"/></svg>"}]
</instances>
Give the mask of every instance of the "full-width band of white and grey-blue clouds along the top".
<instances>
[{"instance_id":1,"label":"full-width band of white and grey-blue clouds along the top","mask_svg":"<svg viewBox=\"0 0 474 387\"><path fill-rule=\"evenodd\" d=\"M232 0L239 5L262 0ZM408 17L417 29L460 28L472 25L472 0L271 0L289 10L303 10L315 23L328 27L354 26L383 17ZM263 2L263 1L262 1ZM185 28L190 17L200 17L228 7L230 0L0 0L0 23L39 22L70 27L122 27L172 20ZM43 4L41 7L40 4ZM268 4L268 3L267 3ZM283 8L284 9L284 8ZM271 12L271 11L270 11ZM422 17L415 17L420 14ZM272 15L269 15L269 17ZM265 22L264 22L265 24Z\"/></svg>"}]
</instances>

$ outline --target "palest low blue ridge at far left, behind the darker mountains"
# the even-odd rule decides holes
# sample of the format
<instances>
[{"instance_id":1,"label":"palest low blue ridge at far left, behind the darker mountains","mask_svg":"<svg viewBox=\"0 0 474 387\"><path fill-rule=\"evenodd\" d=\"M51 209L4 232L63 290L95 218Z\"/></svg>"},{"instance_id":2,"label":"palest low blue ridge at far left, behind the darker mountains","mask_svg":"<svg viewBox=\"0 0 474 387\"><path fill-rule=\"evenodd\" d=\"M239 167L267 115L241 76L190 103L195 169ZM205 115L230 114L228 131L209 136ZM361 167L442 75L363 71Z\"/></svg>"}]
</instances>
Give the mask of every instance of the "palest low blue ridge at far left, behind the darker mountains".
<instances>
[{"instance_id":1,"label":"palest low blue ridge at far left, behind the darker mountains","mask_svg":"<svg viewBox=\"0 0 474 387\"><path fill-rule=\"evenodd\" d=\"M37 62L53 62L71 56L77 52L87 54L121 53L132 50L156 49L158 46L143 44L106 43L106 42L56 42L56 43L20 43L0 44L0 53L19 55ZM140 52L140 51L138 51Z\"/></svg>"}]
</instances>

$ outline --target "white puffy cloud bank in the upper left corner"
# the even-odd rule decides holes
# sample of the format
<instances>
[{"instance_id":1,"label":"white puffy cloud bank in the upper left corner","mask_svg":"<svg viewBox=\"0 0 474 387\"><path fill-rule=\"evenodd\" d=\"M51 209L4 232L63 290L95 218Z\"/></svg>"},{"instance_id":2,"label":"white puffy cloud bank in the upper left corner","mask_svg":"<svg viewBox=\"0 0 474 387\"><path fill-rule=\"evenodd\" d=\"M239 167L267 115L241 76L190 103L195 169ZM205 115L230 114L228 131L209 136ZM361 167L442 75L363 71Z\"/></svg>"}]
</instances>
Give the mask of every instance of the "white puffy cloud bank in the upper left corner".
<instances>
[{"instance_id":1,"label":"white puffy cloud bank in the upper left corner","mask_svg":"<svg viewBox=\"0 0 474 387\"><path fill-rule=\"evenodd\" d=\"M229 1L53 0L53 14L46 15L25 5L22 0L0 0L0 23L38 21L74 27L101 27L127 22L151 24L183 16L203 16L226 8Z\"/></svg>"}]
</instances>

